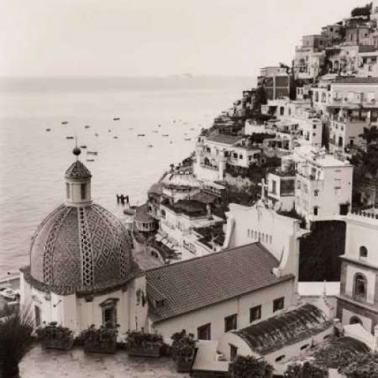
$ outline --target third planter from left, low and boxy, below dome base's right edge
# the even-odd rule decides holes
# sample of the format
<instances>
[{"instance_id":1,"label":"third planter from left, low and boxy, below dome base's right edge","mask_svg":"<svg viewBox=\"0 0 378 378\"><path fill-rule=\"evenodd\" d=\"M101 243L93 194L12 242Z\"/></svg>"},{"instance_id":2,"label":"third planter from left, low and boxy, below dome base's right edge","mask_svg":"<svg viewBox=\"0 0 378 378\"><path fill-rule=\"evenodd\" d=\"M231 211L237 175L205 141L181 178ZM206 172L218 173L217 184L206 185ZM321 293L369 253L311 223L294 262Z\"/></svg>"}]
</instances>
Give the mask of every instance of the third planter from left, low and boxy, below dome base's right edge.
<instances>
[{"instance_id":1,"label":"third planter from left, low and boxy, below dome base's right edge","mask_svg":"<svg viewBox=\"0 0 378 378\"><path fill-rule=\"evenodd\" d=\"M159 357L163 346L163 337L157 333L129 331L126 338L126 349L129 356Z\"/></svg>"}]
</instances>

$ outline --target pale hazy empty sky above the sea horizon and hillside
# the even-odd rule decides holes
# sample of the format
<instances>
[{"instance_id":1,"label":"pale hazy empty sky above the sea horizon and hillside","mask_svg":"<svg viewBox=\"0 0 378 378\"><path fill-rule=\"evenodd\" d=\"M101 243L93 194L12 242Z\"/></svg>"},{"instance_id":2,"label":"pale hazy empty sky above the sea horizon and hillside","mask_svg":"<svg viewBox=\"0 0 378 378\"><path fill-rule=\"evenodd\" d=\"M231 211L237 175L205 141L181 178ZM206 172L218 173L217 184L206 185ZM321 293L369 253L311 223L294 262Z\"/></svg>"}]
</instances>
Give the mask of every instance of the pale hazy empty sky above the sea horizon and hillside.
<instances>
[{"instance_id":1,"label":"pale hazy empty sky above the sea horizon and hillside","mask_svg":"<svg viewBox=\"0 0 378 378\"><path fill-rule=\"evenodd\" d=\"M0 0L0 76L256 76L360 0Z\"/></svg>"}]
</instances>

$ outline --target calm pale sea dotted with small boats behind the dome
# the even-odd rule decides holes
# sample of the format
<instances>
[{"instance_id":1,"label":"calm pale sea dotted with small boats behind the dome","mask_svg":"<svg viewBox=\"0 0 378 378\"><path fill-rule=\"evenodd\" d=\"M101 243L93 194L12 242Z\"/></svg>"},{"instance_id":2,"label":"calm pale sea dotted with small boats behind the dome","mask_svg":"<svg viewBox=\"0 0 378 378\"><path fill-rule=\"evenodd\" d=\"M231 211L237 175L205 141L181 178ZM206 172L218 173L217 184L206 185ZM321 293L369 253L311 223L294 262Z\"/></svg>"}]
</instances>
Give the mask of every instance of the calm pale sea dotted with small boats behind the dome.
<instances>
[{"instance_id":1,"label":"calm pale sea dotted with small boats behind the dome","mask_svg":"<svg viewBox=\"0 0 378 378\"><path fill-rule=\"evenodd\" d=\"M95 162L81 155L93 175L93 200L121 216L115 194L143 203L169 164L193 151L201 127L253 84L247 78L1 81L0 277L28 262L34 230L65 199L63 175L74 161L67 135L98 151Z\"/></svg>"}]
</instances>

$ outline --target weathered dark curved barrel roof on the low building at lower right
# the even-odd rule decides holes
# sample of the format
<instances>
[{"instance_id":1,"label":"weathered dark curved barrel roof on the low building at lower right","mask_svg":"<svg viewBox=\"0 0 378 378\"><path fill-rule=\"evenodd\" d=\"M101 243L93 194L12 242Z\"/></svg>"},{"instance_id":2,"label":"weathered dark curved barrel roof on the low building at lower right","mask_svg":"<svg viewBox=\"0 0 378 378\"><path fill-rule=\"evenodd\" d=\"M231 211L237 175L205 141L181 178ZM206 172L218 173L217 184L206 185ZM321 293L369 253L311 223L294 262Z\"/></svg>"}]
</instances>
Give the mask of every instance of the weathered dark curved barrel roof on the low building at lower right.
<instances>
[{"instance_id":1,"label":"weathered dark curved barrel roof on the low building at lower right","mask_svg":"<svg viewBox=\"0 0 378 378\"><path fill-rule=\"evenodd\" d=\"M245 340L259 355L267 355L316 335L331 325L331 320L318 307L307 303L232 333Z\"/></svg>"}]
</instances>

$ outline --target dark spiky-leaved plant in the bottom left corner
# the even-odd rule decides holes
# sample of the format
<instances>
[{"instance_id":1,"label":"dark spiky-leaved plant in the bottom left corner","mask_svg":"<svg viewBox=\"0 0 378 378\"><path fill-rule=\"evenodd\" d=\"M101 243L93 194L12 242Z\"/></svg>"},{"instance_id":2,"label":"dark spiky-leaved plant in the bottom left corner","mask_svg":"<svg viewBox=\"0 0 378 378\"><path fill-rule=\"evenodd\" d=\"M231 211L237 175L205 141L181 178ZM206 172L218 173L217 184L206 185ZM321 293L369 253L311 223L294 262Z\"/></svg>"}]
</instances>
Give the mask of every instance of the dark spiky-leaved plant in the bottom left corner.
<instances>
[{"instance_id":1,"label":"dark spiky-leaved plant in the bottom left corner","mask_svg":"<svg viewBox=\"0 0 378 378\"><path fill-rule=\"evenodd\" d=\"M0 377L19 375L19 362L32 344L34 322L29 311L6 311L0 322Z\"/></svg>"}]
</instances>

